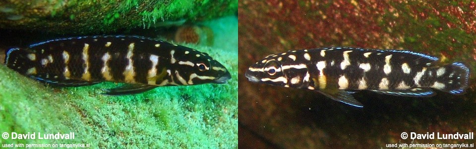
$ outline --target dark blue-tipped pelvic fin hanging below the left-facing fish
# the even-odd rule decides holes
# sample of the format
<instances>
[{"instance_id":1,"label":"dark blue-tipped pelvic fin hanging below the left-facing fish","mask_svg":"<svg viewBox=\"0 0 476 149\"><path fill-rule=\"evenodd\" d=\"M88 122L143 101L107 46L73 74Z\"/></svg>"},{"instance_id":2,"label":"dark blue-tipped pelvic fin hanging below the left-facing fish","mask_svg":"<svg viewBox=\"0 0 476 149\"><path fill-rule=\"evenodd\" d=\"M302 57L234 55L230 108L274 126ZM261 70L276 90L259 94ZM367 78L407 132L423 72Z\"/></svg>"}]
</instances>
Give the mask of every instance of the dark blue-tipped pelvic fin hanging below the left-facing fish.
<instances>
[{"instance_id":1,"label":"dark blue-tipped pelvic fin hanging below the left-facing fish","mask_svg":"<svg viewBox=\"0 0 476 149\"><path fill-rule=\"evenodd\" d=\"M363 104L357 101L348 91L345 90L318 90L319 93L331 98L335 101L340 101L348 105L356 106L356 107L363 107Z\"/></svg>"}]
</instances>

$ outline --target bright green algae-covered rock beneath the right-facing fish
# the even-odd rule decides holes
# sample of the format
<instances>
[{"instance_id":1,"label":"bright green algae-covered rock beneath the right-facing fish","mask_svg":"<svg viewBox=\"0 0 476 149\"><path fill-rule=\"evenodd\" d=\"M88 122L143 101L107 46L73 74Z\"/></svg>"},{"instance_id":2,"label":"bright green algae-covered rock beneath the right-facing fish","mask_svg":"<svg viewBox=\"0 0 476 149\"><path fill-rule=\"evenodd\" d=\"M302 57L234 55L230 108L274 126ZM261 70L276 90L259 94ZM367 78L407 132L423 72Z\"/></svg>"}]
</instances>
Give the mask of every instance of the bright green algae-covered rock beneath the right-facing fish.
<instances>
[{"instance_id":1,"label":"bright green algae-covered rock beneath the right-facing fish","mask_svg":"<svg viewBox=\"0 0 476 149\"><path fill-rule=\"evenodd\" d=\"M84 144L92 148L238 148L238 19L221 19L216 43L184 46L208 53L232 74L226 84L157 87L102 95L103 82L54 88L0 65L0 133L69 134L71 140L0 139L0 144ZM230 23L231 22L231 23ZM217 21L205 24L221 24ZM223 27L223 26L222 26Z\"/></svg>"}]
</instances>

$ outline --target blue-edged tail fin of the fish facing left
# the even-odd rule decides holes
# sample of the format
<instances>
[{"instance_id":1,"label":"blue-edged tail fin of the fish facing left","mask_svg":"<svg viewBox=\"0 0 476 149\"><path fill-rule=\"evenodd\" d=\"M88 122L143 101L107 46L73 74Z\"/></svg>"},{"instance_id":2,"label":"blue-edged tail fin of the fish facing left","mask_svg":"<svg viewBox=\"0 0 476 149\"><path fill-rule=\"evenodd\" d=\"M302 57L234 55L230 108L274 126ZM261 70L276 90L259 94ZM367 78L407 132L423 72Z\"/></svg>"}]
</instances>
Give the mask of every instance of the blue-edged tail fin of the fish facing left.
<instances>
[{"instance_id":1,"label":"blue-edged tail fin of the fish facing left","mask_svg":"<svg viewBox=\"0 0 476 149\"><path fill-rule=\"evenodd\" d=\"M463 94L468 88L470 69L463 63L455 62L436 69L436 81L431 86L452 94Z\"/></svg>"}]
</instances>

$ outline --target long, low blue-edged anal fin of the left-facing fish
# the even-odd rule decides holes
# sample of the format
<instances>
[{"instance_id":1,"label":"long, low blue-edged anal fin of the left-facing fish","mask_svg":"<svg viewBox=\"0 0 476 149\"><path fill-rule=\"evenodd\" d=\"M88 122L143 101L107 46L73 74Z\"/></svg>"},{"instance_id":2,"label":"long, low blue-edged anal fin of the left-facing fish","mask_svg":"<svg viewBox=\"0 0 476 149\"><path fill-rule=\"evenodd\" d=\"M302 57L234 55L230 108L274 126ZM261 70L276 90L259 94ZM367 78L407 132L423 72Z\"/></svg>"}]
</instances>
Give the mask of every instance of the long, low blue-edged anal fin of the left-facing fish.
<instances>
[{"instance_id":1,"label":"long, low blue-edged anal fin of the left-facing fish","mask_svg":"<svg viewBox=\"0 0 476 149\"><path fill-rule=\"evenodd\" d=\"M412 88L412 89L405 89L405 90L371 90L373 92L386 94L386 95L394 95L394 96L406 96L406 97L431 97L434 96L433 90L430 88Z\"/></svg>"}]
</instances>

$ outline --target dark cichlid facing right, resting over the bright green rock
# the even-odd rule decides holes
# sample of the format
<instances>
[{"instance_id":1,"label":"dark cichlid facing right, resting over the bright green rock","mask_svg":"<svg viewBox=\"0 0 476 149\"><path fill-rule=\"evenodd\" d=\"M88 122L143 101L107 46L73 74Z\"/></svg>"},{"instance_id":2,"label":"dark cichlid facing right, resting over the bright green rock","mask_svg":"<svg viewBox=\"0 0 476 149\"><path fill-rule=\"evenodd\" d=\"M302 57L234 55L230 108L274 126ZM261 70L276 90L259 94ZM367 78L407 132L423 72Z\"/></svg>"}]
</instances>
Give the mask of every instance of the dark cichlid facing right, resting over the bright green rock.
<instances>
[{"instance_id":1,"label":"dark cichlid facing right, resting over the bright green rock","mask_svg":"<svg viewBox=\"0 0 476 149\"><path fill-rule=\"evenodd\" d=\"M6 52L5 65L55 86L128 83L104 94L140 93L158 86L226 83L228 70L206 53L140 36L49 40Z\"/></svg>"}]
</instances>

